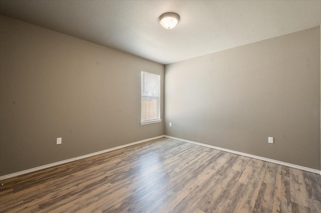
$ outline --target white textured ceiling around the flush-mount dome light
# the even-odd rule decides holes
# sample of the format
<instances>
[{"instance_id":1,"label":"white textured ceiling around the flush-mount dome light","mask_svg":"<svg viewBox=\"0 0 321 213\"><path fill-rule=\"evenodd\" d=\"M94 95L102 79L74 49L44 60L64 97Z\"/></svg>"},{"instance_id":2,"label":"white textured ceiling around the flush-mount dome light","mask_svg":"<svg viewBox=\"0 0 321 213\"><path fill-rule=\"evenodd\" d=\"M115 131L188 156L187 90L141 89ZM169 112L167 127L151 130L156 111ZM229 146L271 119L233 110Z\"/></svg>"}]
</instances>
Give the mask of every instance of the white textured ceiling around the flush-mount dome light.
<instances>
[{"instance_id":1,"label":"white textured ceiling around the flush-mount dome light","mask_svg":"<svg viewBox=\"0 0 321 213\"><path fill-rule=\"evenodd\" d=\"M318 26L321 1L0 0L0 14L168 64Z\"/></svg>"}]
</instances>

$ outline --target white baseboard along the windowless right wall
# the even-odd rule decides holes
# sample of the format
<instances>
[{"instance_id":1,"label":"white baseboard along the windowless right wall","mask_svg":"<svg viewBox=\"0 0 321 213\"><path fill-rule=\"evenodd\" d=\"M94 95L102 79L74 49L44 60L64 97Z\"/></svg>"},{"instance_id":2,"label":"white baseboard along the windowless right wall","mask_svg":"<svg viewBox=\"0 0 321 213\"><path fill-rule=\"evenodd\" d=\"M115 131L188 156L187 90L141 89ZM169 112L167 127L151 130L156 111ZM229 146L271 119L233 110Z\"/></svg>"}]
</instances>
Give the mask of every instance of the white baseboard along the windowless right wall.
<instances>
[{"instance_id":1,"label":"white baseboard along the windowless right wall","mask_svg":"<svg viewBox=\"0 0 321 213\"><path fill-rule=\"evenodd\" d=\"M317 173L317 174L321 175L321 171L317 170L317 169L314 169L314 168L308 168L308 167L304 167L304 166L301 166L301 165L295 165L295 164L282 162L282 161L279 161L279 160L274 160L274 159L270 159L270 158L266 158L266 157L260 157L260 156L256 156L256 155L253 155L253 154L247 154L247 153L244 153L244 152L240 152L240 151L233 151L233 150L230 150L230 149L227 149L227 148L221 148L221 147L208 145L208 144L204 144L204 143L200 143L200 142L195 142L195 141L191 141L191 140L186 140L186 139L182 139L182 138L178 138L178 137L172 137L172 136L168 136L168 135L165 135L165 137L176 139L176 140L181 140L181 141L184 141L184 142L193 143L193 144L196 144L196 145L202 145L202 146L209 147L209 148L215 148L215 149L218 149L218 150L221 150L221 151L227 151L227 152L230 152L230 153L239 154L239 155L243 155L243 156L246 156L246 157L251 157L251 158L255 158L255 159L259 159L259 160L264 160L264 161L267 161L267 162L272 162L272 163L276 163L276 164L280 164L280 165L285 165L285 166L288 166L288 167L291 167L291 168L297 168L297 169L300 169L300 170L303 170L303 171L309 171L309 172Z\"/></svg>"}]
</instances>

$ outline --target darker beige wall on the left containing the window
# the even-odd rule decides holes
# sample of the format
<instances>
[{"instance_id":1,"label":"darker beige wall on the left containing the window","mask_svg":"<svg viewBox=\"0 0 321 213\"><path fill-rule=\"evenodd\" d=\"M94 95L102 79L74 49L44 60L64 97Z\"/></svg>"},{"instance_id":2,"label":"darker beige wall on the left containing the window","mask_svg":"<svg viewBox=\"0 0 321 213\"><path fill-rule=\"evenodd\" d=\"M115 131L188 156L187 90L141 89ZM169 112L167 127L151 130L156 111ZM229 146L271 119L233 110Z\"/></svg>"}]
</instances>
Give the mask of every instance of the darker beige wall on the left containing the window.
<instances>
[{"instance_id":1,"label":"darker beige wall on the left containing the window","mask_svg":"<svg viewBox=\"0 0 321 213\"><path fill-rule=\"evenodd\" d=\"M140 125L141 70L161 74L164 94L164 65L0 21L0 175L164 134Z\"/></svg>"}]
</instances>

